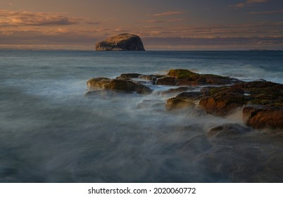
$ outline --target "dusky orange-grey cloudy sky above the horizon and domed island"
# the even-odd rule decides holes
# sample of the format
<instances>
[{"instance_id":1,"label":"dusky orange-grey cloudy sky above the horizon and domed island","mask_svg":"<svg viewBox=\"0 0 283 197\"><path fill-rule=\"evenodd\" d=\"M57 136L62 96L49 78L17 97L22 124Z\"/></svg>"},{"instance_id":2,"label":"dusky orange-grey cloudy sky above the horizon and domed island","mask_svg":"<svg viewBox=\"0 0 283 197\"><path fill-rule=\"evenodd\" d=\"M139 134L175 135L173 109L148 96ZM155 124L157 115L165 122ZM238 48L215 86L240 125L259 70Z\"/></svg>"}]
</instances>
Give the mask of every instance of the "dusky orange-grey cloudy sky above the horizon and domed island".
<instances>
[{"instance_id":1,"label":"dusky orange-grey cloudy sky above the horizon and domed island","mask_svg":"<svg viewBox=\"0 0 283 197\"><path fill-rule=\"evenodd\" d=\"M150 50L283 49L282 0L0 0L0 49L94 50L120 33Z\"/></svg>"}]
</instances>

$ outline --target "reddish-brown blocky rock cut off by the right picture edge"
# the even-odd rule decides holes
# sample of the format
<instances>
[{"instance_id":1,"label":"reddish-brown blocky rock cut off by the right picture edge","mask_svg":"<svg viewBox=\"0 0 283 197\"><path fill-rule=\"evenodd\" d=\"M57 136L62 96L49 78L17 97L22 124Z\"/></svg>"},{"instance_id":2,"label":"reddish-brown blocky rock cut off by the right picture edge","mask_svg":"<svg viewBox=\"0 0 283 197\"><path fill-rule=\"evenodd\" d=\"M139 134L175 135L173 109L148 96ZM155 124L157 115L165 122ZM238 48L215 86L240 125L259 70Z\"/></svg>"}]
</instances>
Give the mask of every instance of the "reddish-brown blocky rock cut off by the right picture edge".
<instances>
[{"instance_id":1,"label":"reddish-brown blocky rock cut off by the right picture edge","mask_svg":"<svg viewBox=\"0 0 283 197\"><path fill-rule=\"evenodd\" d=\"M283 129L282 107L245 107L243 108L243 121L255 129L272 128Z\"/></svg>"}]
</instances>

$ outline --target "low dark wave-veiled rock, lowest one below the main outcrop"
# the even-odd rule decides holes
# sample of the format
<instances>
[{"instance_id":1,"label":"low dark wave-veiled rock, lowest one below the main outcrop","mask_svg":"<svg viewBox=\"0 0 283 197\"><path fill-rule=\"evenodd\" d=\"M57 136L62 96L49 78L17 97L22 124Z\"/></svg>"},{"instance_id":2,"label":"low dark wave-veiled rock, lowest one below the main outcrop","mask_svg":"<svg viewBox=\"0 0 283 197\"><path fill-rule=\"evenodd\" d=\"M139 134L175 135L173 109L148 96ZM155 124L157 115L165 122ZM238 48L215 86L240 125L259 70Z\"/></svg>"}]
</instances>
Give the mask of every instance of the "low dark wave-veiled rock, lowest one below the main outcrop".
<instances>
[{"instance_id":1,"label":"low dark wave-veiled rock, lowest one below the main outcrop","mask_svg":"<svg viewBox=\"0 0 283 197\"><path fill-rule=\"evenodd\" d=\"M246 134L251 129L243 127L239 124L225 124L218 127L213 127L209 130L208 136L222 137L222 136L235 136L239 134Z\"/></svg>"}]
</instances>

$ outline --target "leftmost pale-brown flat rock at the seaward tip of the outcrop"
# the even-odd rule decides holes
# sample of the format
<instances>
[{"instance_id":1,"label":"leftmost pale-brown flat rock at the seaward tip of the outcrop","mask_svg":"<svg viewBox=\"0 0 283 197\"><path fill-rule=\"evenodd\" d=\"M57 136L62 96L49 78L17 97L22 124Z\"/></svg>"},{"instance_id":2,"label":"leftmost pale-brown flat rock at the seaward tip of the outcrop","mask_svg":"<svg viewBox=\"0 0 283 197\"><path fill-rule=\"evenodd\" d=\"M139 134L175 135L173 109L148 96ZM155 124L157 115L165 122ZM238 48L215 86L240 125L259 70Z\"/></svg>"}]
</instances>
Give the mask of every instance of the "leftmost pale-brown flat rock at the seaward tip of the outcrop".
<instances>
[{"instance_id":1,"label":"leftmost pale-brown flat rock at the seaward tip of the outcrop","mask_svg":"<svg viewBox=\"0 0 283 197\"><path fill-rule=\"evenodd\" d=\"M110 80L105 77L96 77L87 81L87 87L89 91L97 89L111 89L111 90L122 90L122 91L136 91L139 94L150 94L151 89L143 84L138 84L132 80Z\"/></svg>"}]
</instances>

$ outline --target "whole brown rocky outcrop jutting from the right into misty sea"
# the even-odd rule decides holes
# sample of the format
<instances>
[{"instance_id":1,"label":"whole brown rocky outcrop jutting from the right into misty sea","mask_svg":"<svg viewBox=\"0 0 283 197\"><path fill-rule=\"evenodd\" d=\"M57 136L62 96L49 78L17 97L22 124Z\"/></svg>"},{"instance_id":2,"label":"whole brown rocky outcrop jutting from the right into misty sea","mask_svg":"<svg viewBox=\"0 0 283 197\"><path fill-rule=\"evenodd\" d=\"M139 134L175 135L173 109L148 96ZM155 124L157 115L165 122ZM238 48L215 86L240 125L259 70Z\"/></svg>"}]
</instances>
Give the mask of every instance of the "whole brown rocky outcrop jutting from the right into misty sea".
<instances>
[{"instance_id":1,"label":"whole brown rocky outcrop jutting from the right into misty sea","mask_svg":"<svg viewBox=\"0 0 283 197\"><path fill-rule=\"evenodd\" d=\"M125 73L115 79L92 78L87 81L87 94L97 90L151 94L153 90L146 84L176 87L162 92L180 92L168 99L167 110L197 107L208 114L225 116L242 108L244 125L255 129L283 129L283 84L265 80L243 82L231 77L172 69L167 75ZM196 86L202 87L200 91L188 91L189 87Z\"/></svg>"}]
</instances>

